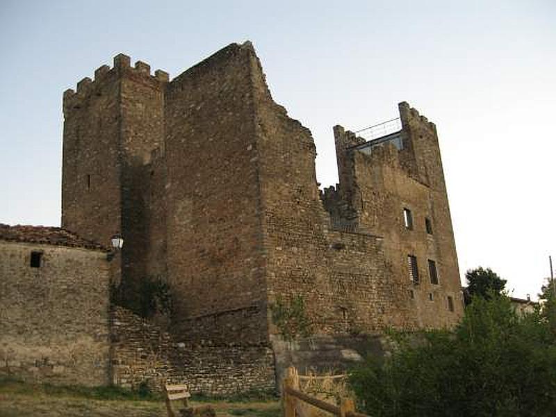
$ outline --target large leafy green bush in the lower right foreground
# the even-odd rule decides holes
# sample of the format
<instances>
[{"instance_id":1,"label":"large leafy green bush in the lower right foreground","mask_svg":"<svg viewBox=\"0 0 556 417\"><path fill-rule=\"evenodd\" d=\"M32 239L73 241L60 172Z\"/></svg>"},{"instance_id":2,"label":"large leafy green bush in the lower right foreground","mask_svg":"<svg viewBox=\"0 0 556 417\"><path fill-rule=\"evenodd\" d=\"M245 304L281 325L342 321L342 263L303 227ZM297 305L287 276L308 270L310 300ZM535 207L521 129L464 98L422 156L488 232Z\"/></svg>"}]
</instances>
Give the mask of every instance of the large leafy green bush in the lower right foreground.
<instances>
[{"instance_id":1,"label":"large leafy green bush in the lower right foreground","mask_svg":"<svg viewBox=\"0 0 556 417\"><path fill-rule=\"evenodd\" d=\"M556 343L539 313L520 319L509 298L477 297L453 332L394 334L382 360L352 371L371 416L553 416Z\"/></svg>"}]
</instances>

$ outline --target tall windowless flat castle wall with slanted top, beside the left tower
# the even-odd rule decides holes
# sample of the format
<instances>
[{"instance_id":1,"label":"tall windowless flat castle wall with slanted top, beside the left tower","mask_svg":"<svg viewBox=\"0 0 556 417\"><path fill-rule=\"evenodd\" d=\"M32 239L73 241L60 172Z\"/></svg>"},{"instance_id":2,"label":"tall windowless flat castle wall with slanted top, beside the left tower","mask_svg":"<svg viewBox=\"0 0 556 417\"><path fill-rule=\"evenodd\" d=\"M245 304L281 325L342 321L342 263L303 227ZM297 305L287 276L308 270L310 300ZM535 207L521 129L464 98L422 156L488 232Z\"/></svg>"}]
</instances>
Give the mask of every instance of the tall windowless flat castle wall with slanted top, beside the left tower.
<instances>
[{"instance_id":1,"label":"tall windowless flat castle wall with slanted top, beside the left tower","mask_svg":"<svg viewBox=\"0 0 556 417\"><path fill-rule=\"evenodd\" d=\"M167 85L167 265L177 332L266 339L250 44L231 44Z\"/></svg>"}]
</instances>

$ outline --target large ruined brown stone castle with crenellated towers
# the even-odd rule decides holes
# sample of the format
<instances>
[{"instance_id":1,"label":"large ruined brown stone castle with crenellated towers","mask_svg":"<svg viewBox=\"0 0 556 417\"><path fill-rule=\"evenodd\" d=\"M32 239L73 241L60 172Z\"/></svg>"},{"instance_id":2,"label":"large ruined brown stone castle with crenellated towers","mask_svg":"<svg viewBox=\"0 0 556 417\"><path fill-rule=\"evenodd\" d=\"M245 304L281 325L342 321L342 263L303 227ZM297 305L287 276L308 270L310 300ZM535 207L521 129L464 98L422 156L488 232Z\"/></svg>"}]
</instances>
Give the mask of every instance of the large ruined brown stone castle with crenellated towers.
<instances>
[{"instance_id":1,"label":"large ruined brown stone castle with crenellated towers","mask_svg":"<svg viewBox=\"0 0 556 417\"><path fill-rule=\"evenodd\" d=\"M96 268L108 330L95 366L109 362L101 373L119 384L272 388L287 363L341 362L386 327L454 325L463 303L436 128L407 103L399 112L399 128L373 140L334 126L339 183L320 191L311 133L272 100L250 42L171 81L120 54L67 90L53 233L101 247L124 238ZM19 243L44 244L24 234ZM155 278L172 298L164 328L133 313ZM108 281L125 309L109 302ZM305 327L292 330L276 311L295 303L289 324Z\"/></svg>"}]
</instances>

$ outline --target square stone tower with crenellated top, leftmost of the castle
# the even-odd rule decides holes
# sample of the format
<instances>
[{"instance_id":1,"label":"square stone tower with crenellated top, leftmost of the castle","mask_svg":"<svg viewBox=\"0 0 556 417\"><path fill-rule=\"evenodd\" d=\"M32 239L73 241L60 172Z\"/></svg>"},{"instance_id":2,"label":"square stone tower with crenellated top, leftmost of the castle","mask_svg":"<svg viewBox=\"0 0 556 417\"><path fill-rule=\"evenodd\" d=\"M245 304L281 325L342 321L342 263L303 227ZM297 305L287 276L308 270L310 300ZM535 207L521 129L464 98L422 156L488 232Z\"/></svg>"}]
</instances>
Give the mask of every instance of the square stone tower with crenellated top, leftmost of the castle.
<instances>
[{"instance_id":1,"label":"square stone tower with crenellated top, leftmost of the castle","mask_svg":"<svg viewBox=\"0 0 556 417\"><path fill-rule=\"evenodd\" d=\"M122 279L145 275L146 213L142 173L163 146L163 98L168 75L150 74L129 56L103 65L95 79L64 93L62 227L109 246L125 238Z\"/></svg>"}]
</instances>

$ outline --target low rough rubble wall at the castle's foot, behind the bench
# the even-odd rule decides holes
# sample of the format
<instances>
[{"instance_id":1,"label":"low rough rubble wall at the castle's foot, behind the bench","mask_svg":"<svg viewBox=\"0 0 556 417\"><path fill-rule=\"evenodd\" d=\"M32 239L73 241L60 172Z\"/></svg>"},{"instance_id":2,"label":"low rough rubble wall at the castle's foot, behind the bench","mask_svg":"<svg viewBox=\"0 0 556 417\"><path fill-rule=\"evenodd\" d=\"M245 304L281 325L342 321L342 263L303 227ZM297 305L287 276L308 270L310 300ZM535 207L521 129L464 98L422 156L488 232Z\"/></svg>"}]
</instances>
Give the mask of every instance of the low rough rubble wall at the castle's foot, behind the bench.
<instances>
[{"instance_id":1,"label":"low rough rubble wall at the castle's foot, behind the bench","mask_svg":"<svg viewBox=\"0 0 556 417\"><path fill-rule=\"evenodd\" d=\"M112 314L117 385L131 388L147 382L159 391L168 381L209 395L275 389L272 350L265 345L186 343L129 310L117 307Z\"/></svg>"}]
</instances>

